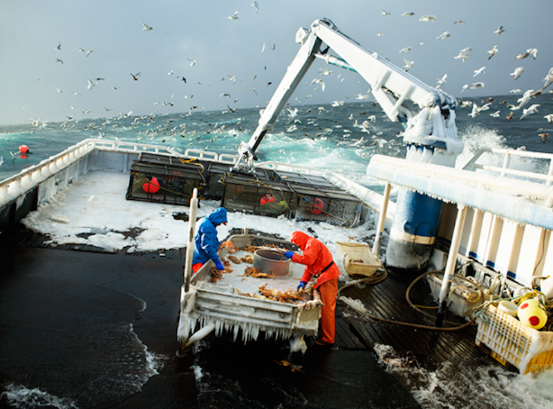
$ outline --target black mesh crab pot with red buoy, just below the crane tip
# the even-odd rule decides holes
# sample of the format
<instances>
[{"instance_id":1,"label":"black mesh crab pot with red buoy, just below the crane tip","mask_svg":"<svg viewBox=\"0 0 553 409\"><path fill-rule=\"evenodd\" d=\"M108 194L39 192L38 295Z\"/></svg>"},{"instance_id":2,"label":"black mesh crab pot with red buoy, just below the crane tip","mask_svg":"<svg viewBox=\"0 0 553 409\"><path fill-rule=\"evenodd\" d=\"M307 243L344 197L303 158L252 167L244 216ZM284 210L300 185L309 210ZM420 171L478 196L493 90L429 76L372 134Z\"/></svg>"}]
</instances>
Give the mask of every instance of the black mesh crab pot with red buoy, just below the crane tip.
<instances>
[{"instance_id":1,"label":"black mesh crab pot with red buoy, just below the crane tip","mask_svg":"<svg viewBox=\"0 0 553 409\"><path fill-rule=\"evenodd\" d=\"M278 217L290 217L294 194L285 183L272 176L272 172L226 174L223 180L225 193L223 207L227 210Z\"/></svg>"}]
</instances>

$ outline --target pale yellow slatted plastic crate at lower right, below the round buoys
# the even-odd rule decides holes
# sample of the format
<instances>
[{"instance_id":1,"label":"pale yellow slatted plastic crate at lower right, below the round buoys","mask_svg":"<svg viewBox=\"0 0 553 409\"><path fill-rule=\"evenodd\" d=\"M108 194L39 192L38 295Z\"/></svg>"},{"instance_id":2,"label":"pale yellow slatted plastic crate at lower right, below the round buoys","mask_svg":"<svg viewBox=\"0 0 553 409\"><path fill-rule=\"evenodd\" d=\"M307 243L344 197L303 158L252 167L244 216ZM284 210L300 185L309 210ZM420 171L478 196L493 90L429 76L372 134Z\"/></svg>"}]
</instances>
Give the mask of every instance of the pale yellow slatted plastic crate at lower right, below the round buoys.
<instances>
[{"instance_id":1,"label":"pale yellow slatted plastic crate at lower right, below the round buoys","mask_svg":"<svg viewBox=\"0 0 553 409\"><path fill-rule=\"evenodd\" d=\"M479 320L476 345L487 345L491 356L510 363L521 374L541 372L553 365L553 331L538 331L524 325L495 305L482 311L487 322Z\"/></svg>"}]
</instances>

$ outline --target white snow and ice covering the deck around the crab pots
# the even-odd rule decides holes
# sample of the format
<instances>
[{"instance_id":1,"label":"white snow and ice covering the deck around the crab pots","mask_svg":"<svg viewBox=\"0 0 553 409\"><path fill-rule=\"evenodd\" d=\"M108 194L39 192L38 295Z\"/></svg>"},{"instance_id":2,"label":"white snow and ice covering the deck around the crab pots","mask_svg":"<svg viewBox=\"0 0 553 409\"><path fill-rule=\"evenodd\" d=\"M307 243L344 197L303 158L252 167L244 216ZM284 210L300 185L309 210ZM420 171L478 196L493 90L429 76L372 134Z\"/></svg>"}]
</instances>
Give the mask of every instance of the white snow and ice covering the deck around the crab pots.
<instances>
[{"instance_id":1,"label":"white snow and ice covering the deck around the crab pots","mask_svg":"<svg viewBox=\"0 0 553 409\"><path fill-rule=\"evenodd\" d=\"M53 246L83 244L108 251L127 248L127 253L185 248L187 222L174 218L189 213L187 206L126 200L129 174L120 172L90 172L73 181L55 199L30 212L22 223L32 231L48 235ZM198 217L209 215L220 206L218 201L200 201ZM241 212L229 212L227 226L218 227L220 240L232 228L249 228L288 239L295 230L312 235L317 233L335 255L335 242L361 242L375 234L374 218L363 226L341 228L326 223L279 219Z\"/></svg>"}]
</instances>

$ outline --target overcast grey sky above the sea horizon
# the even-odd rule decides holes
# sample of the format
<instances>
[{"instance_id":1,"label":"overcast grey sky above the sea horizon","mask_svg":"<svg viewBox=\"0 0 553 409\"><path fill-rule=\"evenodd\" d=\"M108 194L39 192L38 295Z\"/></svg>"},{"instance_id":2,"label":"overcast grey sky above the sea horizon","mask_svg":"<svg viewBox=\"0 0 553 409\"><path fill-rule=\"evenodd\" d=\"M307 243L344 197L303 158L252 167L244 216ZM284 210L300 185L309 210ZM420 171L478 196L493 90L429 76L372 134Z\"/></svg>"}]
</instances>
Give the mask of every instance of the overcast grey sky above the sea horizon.
<instances>
[{"instance_id":1,"label":"overcast grey sky above the sea horizon","mask_svg":"<svg viewBox=\"0 0 553 409\"><path fill-rule=\"evenodd\" d=\"M397 66L405 65L404 58L413 61L409 72L431 86L447 74L442 89L457 98L539 89L553 66L551 0L258 0L258 11L252 3L1 1L0 124L27 123L30 118L62 121L73 114L83 119L129 111L188 112L192 106L264 107L299 49L297 30L323 17ZM229 19L235 11L238 19ZM415 15L402 16L405 12ZM424 15L436 19L419 21ZM463 22L454 23L459 20ZM153 30L144 31L141 22ZM501 35L494 34L498 26L505 28ZM451 37L436 38L446 31ZM487 51L494 45L498 53L488 60ZM413 49L400 53L406 47ZM471 57L465 62L454 58L467 47L472 48ZM536 60L514 59L528 48L538 49ZM339 50L331 53L339 56ZM189 60L196 64L191 66ZM340 82L343 70L334 66L328 66L334 74L324 77L325 91L313 89L312 80L323 78L319 69L325 66L317 60L297 89L294 98L301 104L353 102L357 94L366 93L368 84L362 78L344 71ZM482 66L487 67L485 73L474 78L474 70ZM527 72L514 81L509 74L518 66ZM131 74L137 73L135 81ZM236 77L235 84L230 76ZM91 89L87 79L95 84ZM485 87L460 92L474 82Z\"/></svg>"}]
</instances>

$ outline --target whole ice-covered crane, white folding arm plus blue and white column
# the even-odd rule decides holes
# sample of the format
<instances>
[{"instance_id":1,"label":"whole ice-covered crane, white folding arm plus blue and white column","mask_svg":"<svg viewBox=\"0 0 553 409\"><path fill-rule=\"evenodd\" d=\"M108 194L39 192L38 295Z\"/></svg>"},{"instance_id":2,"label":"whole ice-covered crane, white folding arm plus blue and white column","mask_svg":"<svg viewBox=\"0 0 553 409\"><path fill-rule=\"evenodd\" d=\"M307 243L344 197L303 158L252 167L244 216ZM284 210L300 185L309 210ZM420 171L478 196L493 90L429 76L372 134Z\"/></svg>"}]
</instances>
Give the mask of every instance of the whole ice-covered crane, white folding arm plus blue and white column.
<instances>
[{"instance_id":1,"label":"whole ice-covered crane, white folding arm plus blue and white column","mask_svg":"<svg viewBox=\"0 0 553 409\"><path fill-rule=\"evenodd\" d=\"M306 75L315 58L356 71L371 86L371 93L392 122L404 126L406 158L439 165L455 165L463 145L457 138L457 101L440 89L430 87L377 53L341 33L328 19L315 20L309 30L300 28L299 51L288 67L252 138L238 147L241 160L236 170L251 171L256 150L277 121L285 104ZM321 53L326 44L339 57ZM418 105L412 111L407 102ZM419 269L427 263L435 240L441 202L413 191L402 191L397 199L386 262L403 269Z\"/></svg>"}]
</instances>

